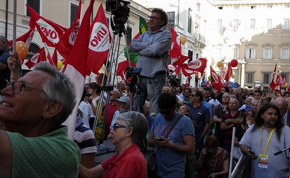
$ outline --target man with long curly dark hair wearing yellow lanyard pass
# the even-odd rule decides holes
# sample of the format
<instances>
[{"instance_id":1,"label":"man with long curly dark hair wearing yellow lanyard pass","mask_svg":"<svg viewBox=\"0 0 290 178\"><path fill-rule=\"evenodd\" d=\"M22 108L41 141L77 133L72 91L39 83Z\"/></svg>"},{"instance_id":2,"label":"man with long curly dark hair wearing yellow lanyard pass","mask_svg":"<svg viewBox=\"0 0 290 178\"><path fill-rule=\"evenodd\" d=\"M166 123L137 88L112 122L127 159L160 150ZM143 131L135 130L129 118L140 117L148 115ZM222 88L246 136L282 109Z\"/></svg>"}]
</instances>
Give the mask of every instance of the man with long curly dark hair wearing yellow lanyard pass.
<instances>
[{"instance_id":1,"label":"man with long curly dark hair wearing yellow lanyard pass","mask_svg":"<svg viewBox=\"0 0 290 178\"><path fill-rule=\"evenodd\" d=\"M286 177L289 151L274 153L290 145L290 128L285 126L279 108L265 103L240 141L241 151L252 160L251 178Z\"/></svg>"}]
</instances>

